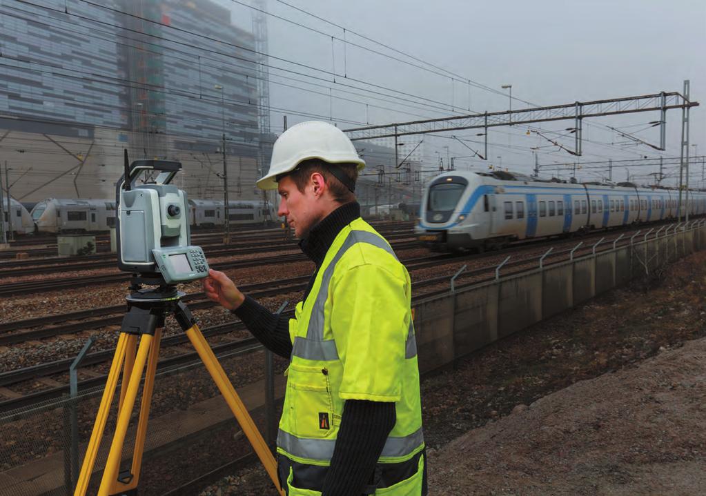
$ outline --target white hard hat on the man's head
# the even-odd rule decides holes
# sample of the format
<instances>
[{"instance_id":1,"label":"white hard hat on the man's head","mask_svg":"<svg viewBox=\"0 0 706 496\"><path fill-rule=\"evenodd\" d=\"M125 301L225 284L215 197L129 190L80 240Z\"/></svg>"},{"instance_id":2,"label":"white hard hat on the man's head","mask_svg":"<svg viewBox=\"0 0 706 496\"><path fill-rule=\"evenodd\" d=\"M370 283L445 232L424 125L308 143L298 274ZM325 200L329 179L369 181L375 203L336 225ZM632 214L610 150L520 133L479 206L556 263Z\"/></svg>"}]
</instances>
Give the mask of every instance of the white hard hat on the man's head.
<instances>
[{"instance_id":1,"label":"white hard hat on the man's head","mask_svg":"<svg viewBox=\"0 0 706 496\"><path fill-rule=\"evenodd\" d=\"M277 138L270 171L258 180L258 188L277 189L277 176L293 171L308 159L321 159L330 164L358 164L359 171L365 167L365 161L343 131L328 122L306 121L292 126Z\"/></svg>"}]
</instances>

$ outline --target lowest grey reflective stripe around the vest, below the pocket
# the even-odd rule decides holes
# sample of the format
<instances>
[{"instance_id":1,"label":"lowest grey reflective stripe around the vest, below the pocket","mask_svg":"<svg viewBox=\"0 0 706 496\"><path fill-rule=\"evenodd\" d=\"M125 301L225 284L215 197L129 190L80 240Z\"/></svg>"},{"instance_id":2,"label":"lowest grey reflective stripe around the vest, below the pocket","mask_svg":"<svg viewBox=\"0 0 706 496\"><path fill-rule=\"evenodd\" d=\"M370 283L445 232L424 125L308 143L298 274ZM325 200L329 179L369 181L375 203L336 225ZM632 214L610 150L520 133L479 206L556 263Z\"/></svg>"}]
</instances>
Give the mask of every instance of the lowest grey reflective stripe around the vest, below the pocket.
<instances>
[{"instance_id":1,"label":"lowest grey reflective stripe around the vest, below the pocket","mask_svg":"<svg viewBox=\"0 0 706 496\"><path fill-rule=\"evenodd\" d=\"M405 456L415 448L419 447L424 442L424 435L421 428L414 433L405 437L388 437L385 441L385 447L380 456L395 457ZM306 437L297 437L295 435L285 433L280 429L277 433L277 446L284 449L285 452L300 458L330 460L333 456L333 448L336 444L335 439L309 439Z\"/></svg>"}]
</instances>

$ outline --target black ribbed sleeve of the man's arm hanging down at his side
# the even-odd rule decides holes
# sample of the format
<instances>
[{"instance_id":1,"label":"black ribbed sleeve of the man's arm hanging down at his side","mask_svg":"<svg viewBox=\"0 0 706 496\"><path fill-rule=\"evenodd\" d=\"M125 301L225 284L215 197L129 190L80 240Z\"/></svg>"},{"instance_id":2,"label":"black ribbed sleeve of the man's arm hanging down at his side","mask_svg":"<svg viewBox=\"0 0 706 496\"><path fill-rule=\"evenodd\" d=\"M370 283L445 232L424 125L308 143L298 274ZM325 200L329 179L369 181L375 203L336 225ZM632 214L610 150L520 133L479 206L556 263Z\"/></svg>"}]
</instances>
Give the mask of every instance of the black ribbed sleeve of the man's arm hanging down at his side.
<instances>
[{"instance_id":1,"label":"black ribbed sleeve of the man's arm hanging down at his side","mask_svg":"<svg viewBox=\"0 0 706 496\"><path fill-rule=\"evenodd\" d=\"M363 494L396 418L394 403L346 400L322 496Z\"/></svg>"}]
</instances>

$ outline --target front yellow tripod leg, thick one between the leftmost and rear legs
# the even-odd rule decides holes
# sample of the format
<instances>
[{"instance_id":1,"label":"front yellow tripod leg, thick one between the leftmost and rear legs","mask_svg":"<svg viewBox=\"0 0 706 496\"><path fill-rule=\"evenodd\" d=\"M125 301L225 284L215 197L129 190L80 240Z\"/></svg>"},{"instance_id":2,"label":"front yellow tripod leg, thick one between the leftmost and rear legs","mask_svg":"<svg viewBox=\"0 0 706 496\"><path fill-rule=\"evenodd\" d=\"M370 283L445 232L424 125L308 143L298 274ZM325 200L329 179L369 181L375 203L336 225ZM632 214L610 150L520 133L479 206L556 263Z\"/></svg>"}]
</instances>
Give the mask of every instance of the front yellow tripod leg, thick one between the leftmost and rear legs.
<instances>
[{"instance_id":1,"label":"front yellow tripod leg, thick one between the leftmost and rear legs","mask_svg":"<svg viewBox=\"0 0 706 496\"><path fill-rule=\"evenodd\" d=\"M109 490L112 488L114 480L117 478L123 443L125 442L125 435L128 430L128 423L130 423L130 416L133 411L133 407L135 406L135 399L140 387L140 381L142 380L142 371L145 368L145 362L147 361L153 341L154 336L151 336L150 334L143 334L140 339L140 347L137 351L135 365L130 374L130 382L125 394L125 403L120 408L120 415L118 416L118 422L115 425L113 441L110 444L108 460L105 463L103 478L100 481L100 489L98 490L99 496L109 496Z\"/></svg>"}]
</instances>

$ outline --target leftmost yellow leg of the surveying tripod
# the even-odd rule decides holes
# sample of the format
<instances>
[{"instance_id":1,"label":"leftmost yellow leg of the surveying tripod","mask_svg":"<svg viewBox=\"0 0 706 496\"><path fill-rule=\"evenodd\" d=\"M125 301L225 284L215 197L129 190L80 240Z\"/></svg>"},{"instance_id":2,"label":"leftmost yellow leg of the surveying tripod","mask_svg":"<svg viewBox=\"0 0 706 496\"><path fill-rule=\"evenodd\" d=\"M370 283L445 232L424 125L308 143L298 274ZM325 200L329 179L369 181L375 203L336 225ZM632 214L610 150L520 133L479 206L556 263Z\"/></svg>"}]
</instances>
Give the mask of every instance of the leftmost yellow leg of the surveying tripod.
<instances>
[{"instance_id":1,"label":"leftmost yellow leg of the surveying tripod","mask_svg":"<svg viewBox=\"0 0 706 496\"><path fill-rule=\"evenodd\" d=\"M110 365L108 380L103 391L103 397L100 400L95 424L93 425L93 430L90 435L90 441L88 442L88 447L86 447L83 465L81 465L81 471L78 476L78 481L76 482L76 490L73 492L74 496L85 496L86 490L88 490L88 483L93 471L93 466L95 465L95 457L98 454L98 447L100 447L100 440L103 437L105 423L108 420L108 414L110 412L110 404L113 401L115 388L118 384L118 377L120 376L121 365L125 358L127 339L128 334L121 333L118 338L118 344L115 346L115 355Z\"/></svg>"}]
</instances>

